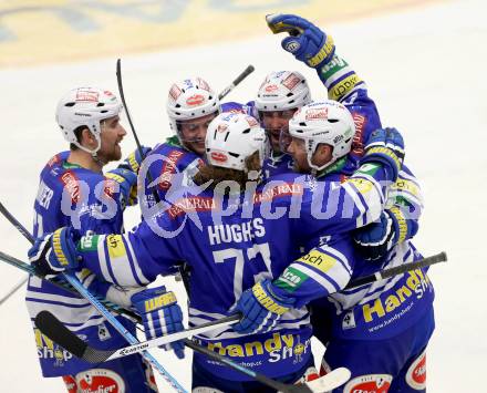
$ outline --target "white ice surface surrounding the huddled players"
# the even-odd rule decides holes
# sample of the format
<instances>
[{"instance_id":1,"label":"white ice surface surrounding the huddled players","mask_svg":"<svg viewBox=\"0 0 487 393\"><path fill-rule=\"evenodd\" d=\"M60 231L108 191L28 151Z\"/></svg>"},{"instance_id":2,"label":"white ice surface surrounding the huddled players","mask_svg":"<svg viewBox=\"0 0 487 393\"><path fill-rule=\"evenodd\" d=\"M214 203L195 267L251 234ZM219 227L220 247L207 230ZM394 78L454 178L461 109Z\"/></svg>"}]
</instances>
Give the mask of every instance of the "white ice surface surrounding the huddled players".
<instances>
[{"instance_id":1,"label":"white ice surface surrounding the huddled players","mask_svg":"<svg viewBox=\"0 0 487 393\"><path fill-rule=\"evenodd\" d=\"M447 265L431 269L437 321L427 355L433 393L481 391L487 355L486 11L485 1L463 0L327 27L338 53L367 82L383 124L403 132L406 163L422 182L426 199L415 244L425 256L445 250L449 257ZM279 40L269 34L235 45L124 58L125 95L142 142L154 145L168 134L166 92L172 81L187 75L199 74L220 90L251 63L256 72L228 96L247 101L266 73L296 69L308 76L315 99L325 97L314 72L283 52ZM32 219L41 167L65 148L54 123L58 99L77 85L116 92L115 60L0 71L0 200L25 226ZM131 135L122 146L124 154L135 147ZM132 209L126 227L136 221L137 210ZM0 234L0 249L24 258L27 241L3 218ZM23 273L0 265L0 277L1 296ZM183 289L177 291L184 302ZM23 290L1 307L0 325L0 390L64 391L60 380L41 378ZM189 360L178 361L159 350L154 353L189 387ZM158 381L162 392L170 391Z\"/></svg>"}]
</instances>

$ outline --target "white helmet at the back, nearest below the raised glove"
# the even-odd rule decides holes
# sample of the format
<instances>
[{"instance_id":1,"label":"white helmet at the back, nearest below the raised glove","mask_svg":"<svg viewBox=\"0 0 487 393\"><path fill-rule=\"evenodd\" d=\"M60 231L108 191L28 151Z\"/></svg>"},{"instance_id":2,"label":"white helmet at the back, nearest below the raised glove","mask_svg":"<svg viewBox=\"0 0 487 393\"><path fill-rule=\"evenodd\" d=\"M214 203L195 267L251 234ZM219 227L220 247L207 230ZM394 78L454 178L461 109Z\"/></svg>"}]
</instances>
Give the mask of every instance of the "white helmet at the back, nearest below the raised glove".
<instances>
[{"instance_id":1,"label":"white helmet at the back, nearest below the raised glove","mask_svg":"<svg viewBox=\"0 0 487 393\"><path fill-rule=\"evenodd\" d=\"M256 107L261 112L286 111L311 102L308 82L298 71L271 72L259 87Z\"/></svg>"}]
</instances>

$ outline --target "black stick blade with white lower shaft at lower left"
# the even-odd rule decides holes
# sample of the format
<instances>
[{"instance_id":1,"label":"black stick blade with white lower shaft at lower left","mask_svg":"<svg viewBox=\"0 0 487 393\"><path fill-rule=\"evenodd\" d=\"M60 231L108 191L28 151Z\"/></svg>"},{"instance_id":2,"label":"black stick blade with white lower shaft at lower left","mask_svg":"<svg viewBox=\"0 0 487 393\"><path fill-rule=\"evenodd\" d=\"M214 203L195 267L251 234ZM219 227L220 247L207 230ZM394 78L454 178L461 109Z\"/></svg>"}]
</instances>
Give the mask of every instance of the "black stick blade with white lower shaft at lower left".
<instances>
[{"instance_id":1,"label":"black stick blade with white lower shaft at lower left","mask_svg":"<svg viewBox=\"0 0 487 393\"><path fill-rule=\"evenodd\" d=\"M39 319L39 321L38 321ZM218 320L217 322L208 322L208 323L204 323L199 327L196 328L191 328L191 329L186 329L183 330L180 332L177 333L173 333L173 334L166 334L153 340L147 340L147 341L143 341L141 343L136 343L133 345L127 345L117 350L111 350L111 351L103 351L103 350L97 350L94 349L90 345L87 345L86 343L84 343L84 348L81 351L81 343L79 342L79 338L76 337L76 334L74 334L72 331L70 331L69 329L66 329L61 321L54 317L52 313L50 313L49 311L42 311L38 314L38 317L35 317L35 325L39 328L39 330L44 333L46 337L49 337L52 341L56 342L58 344L60 344L61 347L63 347L64 349L66 349L68 351L70 351L72 354L74 354L75 356L90 362L90 363L102 363L108 360L113 360L113 359L117 359L117 358L123 358L123 356L127 356L134 353L139 353L143 352L145 350L148 350L151 348L154 347L159 347L159 345L164 345L174 341L178 341L178 340L183 340L183 339L187 339L188 337L195 335L195 334L199 334L199 333L204 333L210 330L215 330L218 328L222 328L222 327L227 327L230 324L234 324L236 322L238 322L240 320L240 316L236 314L236 316L230 316L230 317L226 317L222 318L220 320ZM55 329L50 328L51 325L55 325ZM58 327L63 327L63 329ZM58 333L58 331L60 333ZM70 343L70 340L73 342L72 344ZM73 349L72 352L71 349Z\"/></svg>"}]
</instances>

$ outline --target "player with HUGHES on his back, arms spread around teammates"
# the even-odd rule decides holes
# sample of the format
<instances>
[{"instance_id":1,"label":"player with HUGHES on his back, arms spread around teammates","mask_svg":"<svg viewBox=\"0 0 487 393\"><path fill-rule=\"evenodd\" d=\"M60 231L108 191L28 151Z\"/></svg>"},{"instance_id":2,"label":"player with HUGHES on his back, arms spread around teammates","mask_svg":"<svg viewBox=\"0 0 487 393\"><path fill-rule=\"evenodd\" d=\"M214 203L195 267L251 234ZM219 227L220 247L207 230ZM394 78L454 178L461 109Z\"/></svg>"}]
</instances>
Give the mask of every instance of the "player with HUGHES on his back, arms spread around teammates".
<instances>
[{"instance_id":1,"label":"player with HUGHES on his back, arms spread around teammates","mask_svg":"<svg viewBox=\"0 0 487 393\"><path fill-rule=\"evenodd\" d=\"M350 113L340 118L340 135L350 141L354 132ZM64 228L58 231L61 241L56 246L71 267L80 269L77 257L82 256L82 266L120 286L153 281L157 275L170 272L174 262L187 260L193 267L189 322L213 321L226 316L256 281L278 277L298 256L299 246L317 234L348 232L380 217L385 185L396 179L401 167L402 139L394 131L377 131L374 142L382 147L365 154L362 169L366 172L359 170L341 185L317 187L312 177L299 174L259 184L256 179L267 146L263 130L253 117L220 114L206 137L209 165L194 177L200 186L169 190L166 198L173 198L172 205L127 235L84 237L75 250L70 230ZM320 214L328 219L317 219ZM33 250L45 255L49 247L50 242L38 241ZM137 269L124 269L126 261ZM52 252L34 263L56 271L65 268ZM172 323L165 301L156 309L145 309L134 300L149 337L162 333L159 323ZM269 333L248 337L228 328L199 340L256 371L296 382L313 365L310 337L309 313L301 308L284 313ZM266 392L259 383L199 354L194 355L193 376L195 391Z\"/></svg>"}]
</instances>

